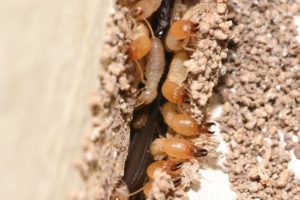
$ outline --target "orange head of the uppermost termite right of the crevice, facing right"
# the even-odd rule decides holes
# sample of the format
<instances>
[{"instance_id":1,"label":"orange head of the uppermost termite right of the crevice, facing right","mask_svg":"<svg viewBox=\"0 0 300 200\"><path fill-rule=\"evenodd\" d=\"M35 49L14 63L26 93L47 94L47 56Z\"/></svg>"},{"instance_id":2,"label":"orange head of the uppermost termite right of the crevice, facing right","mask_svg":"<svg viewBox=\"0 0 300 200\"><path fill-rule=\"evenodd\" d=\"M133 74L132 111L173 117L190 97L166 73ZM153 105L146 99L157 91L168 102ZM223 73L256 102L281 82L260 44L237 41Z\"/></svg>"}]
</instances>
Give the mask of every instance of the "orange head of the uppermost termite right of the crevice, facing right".
<instances>
[{"instance_id":1,"label":"orange head of the uppermost termite right of the crevice, facing right","mask_svg":"<svg viewBox=\"0 0 300 200\"><path fill-rule=\"evenodd\" d=\"M197 32L197 30L197 25L189 20L175 21L170 27L170 33L177 40L188 38Z\"/></svg>"}]
</instances>

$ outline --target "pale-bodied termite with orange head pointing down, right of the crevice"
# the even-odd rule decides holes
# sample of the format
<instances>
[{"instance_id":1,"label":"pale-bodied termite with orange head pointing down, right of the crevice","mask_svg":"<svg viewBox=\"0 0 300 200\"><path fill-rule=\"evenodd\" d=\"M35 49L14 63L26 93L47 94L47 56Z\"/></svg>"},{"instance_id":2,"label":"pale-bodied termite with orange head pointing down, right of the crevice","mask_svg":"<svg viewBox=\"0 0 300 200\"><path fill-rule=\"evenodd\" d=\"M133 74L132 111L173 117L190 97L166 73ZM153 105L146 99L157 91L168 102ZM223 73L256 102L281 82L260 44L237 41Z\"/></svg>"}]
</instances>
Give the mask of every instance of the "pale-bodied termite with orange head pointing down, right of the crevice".
<instances>
[{"instance_id":1,"label":"pale-bodied termite with orange head pointing down, right of the crevice","mask_svg":"<svg viewBox=\"0 0 300 200\"><path fill-rule=\"evenodd\" d=\"M188 55L181 51L172 59L167 79L162 86L163 96L170 102L181 105L185 95L184 81L187 78L187 70L183 63L188 60Z\"/></svg>"}]
</instances>

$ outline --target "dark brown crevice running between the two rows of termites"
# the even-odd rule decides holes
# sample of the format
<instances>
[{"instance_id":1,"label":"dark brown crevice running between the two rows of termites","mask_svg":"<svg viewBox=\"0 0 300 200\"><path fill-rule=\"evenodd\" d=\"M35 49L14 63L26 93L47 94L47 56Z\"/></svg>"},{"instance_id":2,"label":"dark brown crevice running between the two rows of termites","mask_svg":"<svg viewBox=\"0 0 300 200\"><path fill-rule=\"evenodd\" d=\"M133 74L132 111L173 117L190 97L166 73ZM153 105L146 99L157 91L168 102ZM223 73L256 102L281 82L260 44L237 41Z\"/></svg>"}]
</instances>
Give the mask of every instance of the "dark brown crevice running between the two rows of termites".
<instances>
[{"instance_id":1,"label":"dark brown crevice running between the two rows of termites","mask_svg":"<svg viewBox=\"0 0 300 200\"><path fill-rule=\"evenodd\" d=\"M171 10L174 0L164 0L157 12L151 17L151 26L154 28L155 36L163 42L164 37L169 29ZM150 154L150 145L155 138L159 135L165 135L167 126L163 122L160 114L160 106L165 101L162 93L161 86L165 80L168 68L171 62L172 55L165 53L166 66L163 77L158 86L158 95L153 103L145 106L145 111L148 110L148 118L145 126L140 130L131 128L130 145L128 157L125 163L125 170L123 181L127 184L129 192L135 192L143 187L147 181L146 169L147 166L153 162ZM143 192L132 196L130 199L141 200L145 199Z\"/></svg>"}]
</instances>

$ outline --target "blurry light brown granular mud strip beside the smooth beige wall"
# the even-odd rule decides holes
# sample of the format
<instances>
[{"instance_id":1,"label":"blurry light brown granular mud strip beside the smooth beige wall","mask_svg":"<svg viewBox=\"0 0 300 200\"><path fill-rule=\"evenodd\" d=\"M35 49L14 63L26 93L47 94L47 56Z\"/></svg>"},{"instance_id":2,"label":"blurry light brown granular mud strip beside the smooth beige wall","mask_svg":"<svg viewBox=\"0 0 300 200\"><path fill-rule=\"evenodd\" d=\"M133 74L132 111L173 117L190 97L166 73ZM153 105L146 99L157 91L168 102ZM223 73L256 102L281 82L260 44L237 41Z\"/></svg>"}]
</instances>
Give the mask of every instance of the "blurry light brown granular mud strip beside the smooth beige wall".
<instances>
[{"instance_id":1,"label":"blurry light brown granular mud strip beside the smooth beige wall","mask_svg":"<svg viewBox=\"0 0 300 200\"><path fill-rule=\"evenodd\" d=\"M99 74L100 88L91 108L93 128L78 168L86 181L86 199L108 199L123 176L132 119L134 92L132 66L127 63L130 43L128 10L116 8L107 26Z\"/></svg>"}]
</instances>

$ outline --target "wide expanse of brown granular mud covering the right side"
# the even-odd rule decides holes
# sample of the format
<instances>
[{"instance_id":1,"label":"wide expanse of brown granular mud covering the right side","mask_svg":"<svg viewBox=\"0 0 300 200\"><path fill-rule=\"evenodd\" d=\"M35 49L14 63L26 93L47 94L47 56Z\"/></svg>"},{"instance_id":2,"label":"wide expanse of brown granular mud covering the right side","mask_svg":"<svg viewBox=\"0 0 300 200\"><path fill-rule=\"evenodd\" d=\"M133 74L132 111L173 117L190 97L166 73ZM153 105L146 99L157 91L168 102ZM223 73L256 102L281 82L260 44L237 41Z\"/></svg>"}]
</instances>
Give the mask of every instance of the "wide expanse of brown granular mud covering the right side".
<instances>
[{"instance_id":1,"label":"wide expanse of brown granular mud covering the right side","mask_svg":"<svg viewBox=\"0 0 300 200\"><path fill-rule=\"evenodd\" d=\"M231 4L240 42L229 52L219 120L232 188L241 200L299 200L300 183L288 162L291 137L300 138L300 46L293 25L300 1Z\"/></svg>"}]
</instances>

